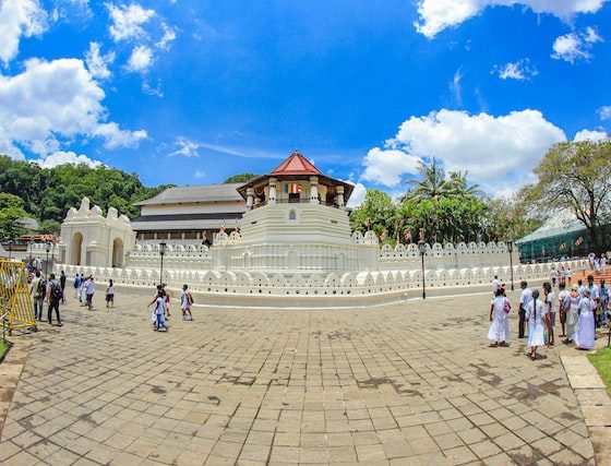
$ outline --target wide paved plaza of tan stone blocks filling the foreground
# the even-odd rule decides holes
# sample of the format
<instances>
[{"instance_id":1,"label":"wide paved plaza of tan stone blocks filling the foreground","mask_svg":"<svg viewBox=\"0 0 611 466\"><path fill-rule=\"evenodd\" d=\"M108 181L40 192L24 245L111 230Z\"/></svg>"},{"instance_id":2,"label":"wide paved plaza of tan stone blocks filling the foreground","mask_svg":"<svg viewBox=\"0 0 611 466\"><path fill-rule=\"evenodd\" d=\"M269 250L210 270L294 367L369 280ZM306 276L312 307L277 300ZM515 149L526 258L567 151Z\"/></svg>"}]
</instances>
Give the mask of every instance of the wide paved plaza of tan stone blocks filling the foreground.
<instances>
[{"instance_id":1,"label":"wide paved plaza of tan stone blocks filling the foreground","mask_svg":"<svg viewBox=\"0 0 611 466\"><path fill-rule=\"evenodd\" d=\"M117 301L19 337L1 464L594 464L576 350L489 348L488 295L194 322L172 303L167 334L145 298Z\"/></svg>"}]
</instances>

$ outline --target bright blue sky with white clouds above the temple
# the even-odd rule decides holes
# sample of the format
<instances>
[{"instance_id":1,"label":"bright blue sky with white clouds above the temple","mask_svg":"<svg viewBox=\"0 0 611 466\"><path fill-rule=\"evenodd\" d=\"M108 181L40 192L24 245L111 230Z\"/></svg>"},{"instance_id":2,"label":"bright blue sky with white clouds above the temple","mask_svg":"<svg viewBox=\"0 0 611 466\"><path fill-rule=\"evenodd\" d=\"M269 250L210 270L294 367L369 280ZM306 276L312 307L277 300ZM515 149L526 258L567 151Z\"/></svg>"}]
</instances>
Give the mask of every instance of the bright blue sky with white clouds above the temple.
<instances>
[{"instance_id":1,"label":"bright blue sky with white clouds above the temple","mask_svg":"<svg viewBox=\"0 0 611 466\"><path fill-rule=\"evenodd\" d=\"M296 147L397 194L419 159L490 194L611 132L607 0L0 0L0 153L148 186Z\"/></svg>"}]
</instances>

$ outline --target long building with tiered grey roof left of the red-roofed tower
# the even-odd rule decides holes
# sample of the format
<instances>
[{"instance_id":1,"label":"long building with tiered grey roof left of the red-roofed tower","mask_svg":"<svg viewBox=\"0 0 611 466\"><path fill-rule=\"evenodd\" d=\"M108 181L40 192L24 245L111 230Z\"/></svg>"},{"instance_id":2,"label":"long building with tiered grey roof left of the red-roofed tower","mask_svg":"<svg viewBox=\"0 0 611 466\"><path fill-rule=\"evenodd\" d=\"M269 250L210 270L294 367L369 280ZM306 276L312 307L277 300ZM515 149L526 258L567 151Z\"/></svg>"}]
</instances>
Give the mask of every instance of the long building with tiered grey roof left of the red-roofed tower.
<instances>
[{"instance_id":1,"label":"long building with tiered grey roof left of the red-roofed tower","mask_svg":"<svg viewBox=\"0 0 611 466\"><path fill-rule=\"evenodd\" d=\"M200 243L204 235L213 240L223 226L233 229L245 212L236 190L241 183L168 188L136 203L140 217L132 220L139 241Z\"/></svg>"}]
</instances>

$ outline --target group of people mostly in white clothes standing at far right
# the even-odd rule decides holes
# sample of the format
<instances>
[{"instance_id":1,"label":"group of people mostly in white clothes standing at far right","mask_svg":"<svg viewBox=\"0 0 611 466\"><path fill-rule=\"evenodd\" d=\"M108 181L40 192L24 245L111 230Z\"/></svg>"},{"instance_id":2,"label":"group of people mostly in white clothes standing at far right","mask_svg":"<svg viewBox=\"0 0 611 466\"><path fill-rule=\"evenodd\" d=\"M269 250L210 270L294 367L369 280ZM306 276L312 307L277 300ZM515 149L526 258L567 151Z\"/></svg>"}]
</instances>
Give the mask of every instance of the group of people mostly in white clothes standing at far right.
<instances>
[{"instance_id":1,"label":"group of people mostly in white clothes standing at far right","mask_svg":"<svg viewBox=\"0 0 611 466\"><path fill-rule=\"evenodd\" d=\"M594 275L588 275L587 285L579 279L570 289L566 287L566 280L560 279L556 295L553 280L543 283L541 291L528 288L526 282L520 283L518 338L528 337L528 357L532 360L540 346L554 345L556 312L562 328L559 336L565 338L564 344L574 344L579 349L592 349L596 327L607 323L610 292L603 278L600 286L594 283ZM492 292L488 339L492 347L508 346L512 307L498 276L492 282Z\"/></svg>"}]
</instances>

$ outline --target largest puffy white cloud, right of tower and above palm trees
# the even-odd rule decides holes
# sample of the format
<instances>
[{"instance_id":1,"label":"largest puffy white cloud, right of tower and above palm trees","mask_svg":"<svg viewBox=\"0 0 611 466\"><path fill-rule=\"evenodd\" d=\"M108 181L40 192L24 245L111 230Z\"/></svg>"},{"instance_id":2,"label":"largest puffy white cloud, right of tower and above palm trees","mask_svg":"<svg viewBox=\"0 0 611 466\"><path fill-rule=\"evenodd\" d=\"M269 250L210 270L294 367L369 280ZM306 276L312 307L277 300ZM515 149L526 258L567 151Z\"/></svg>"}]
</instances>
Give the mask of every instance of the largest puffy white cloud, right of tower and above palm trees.
<instances>
[{"instance_id":1,"label":"largest puffy white cloud, right of tower and above palm trees","mask_svg":"<svg viewBox=\"0 0 611 466\"><path fill-rule=\"evenodd\" d=\"M494 117L442 109L409 118L384 148L372 148L362 178L395 187L415 172L418 160L435 157L446 169L467 170L474 182L496 192L524 184L548 148L565 140L538 110Z\"/></svg>"}]
</instances>

